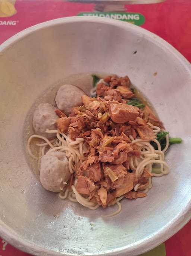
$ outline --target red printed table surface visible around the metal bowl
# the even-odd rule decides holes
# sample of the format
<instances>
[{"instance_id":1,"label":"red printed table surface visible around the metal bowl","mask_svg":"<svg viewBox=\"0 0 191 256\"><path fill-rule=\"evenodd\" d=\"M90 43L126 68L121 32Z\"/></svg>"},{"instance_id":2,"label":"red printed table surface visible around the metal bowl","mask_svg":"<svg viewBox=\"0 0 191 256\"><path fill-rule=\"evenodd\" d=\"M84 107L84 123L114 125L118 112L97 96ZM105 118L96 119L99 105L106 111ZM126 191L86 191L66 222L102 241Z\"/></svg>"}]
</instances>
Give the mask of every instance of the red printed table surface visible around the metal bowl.
<instances>
[{"instance_id":1,"label":"red printed table surface visible around the metal bowl","mask_svg":"<svg viewBox=\"0 0 191 256\"><path fill-rule=\"evenodd\" d=\"M14 3L14 0L7 1ZM75 16L80 12L94 12L94 6L90 3L71 3L63 0L16 0L16 13L9 17L0 16L0 43L40 22ZM145 23L141 27L165 39L191 61L191 0L166 0L157 4L126 5L125 9L126 12L144 15ZM10 22L7 23L7 21ZM190 240L191 221L165 242L166 256L191 256ZM29 255L10 244L4 248L1 242L0 239L0 256Z\"/></svg>"}]
</instances>

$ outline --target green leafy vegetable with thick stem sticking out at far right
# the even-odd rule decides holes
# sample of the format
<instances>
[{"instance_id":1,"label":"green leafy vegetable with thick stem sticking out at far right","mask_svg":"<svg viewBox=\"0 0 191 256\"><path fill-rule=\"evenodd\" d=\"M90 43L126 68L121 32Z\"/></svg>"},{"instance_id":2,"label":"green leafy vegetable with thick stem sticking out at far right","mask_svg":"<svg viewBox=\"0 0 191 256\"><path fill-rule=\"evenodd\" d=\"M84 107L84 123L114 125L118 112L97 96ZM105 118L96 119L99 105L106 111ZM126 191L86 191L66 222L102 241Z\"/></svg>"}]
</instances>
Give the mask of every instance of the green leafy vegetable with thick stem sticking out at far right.
<instances>
[{"instance_id":1,"label":"green leafy vegetable with thick stem sticking out at far right","mask_svg":"<svg viewBox=\"0 0 191 256\"><path fill-rule=\"evenodd\" d=\"M161 150L163 150L166 147L166 135L169 134L169 132L159 132L157 134L157 141L159 141ZM182 139L181 138L169 138L169 145L171 144L177 144L181 143ZM151 141L151 145L154 147L155 150L158 149L157 144L153 141Z\"/></svg>"}]
</instances>

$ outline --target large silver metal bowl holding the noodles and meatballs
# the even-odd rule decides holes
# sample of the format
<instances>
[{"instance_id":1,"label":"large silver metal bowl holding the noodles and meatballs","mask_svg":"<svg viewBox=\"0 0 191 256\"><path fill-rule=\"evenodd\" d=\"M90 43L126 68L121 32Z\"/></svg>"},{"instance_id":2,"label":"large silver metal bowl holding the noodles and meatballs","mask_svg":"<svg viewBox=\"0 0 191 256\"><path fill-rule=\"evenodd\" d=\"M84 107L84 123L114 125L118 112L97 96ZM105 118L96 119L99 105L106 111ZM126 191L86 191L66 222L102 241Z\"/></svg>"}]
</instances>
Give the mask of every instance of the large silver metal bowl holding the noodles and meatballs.
<instances>
[{"instance_id":1,"label":"large silver metal bowl holding the noodles and meatballs","mask_svg":"<svg viewBox=\"0 0 191 256\"><path fill-rule=\"evenodd\" d=\"M38 96L66 76L95 72L128 75L153 103L170 135L184 140L167 153L170 174L153 178L146 198L123 200L121 213L108 219L101 215L115 207L87 210L45 191L25 154L26 117ZM113 19L56 19L4 42L0 235L34 255L133 256L175 234L191 214L190 84L191 66L178 51L143 28Z\"/></svg>"}]
</instances>

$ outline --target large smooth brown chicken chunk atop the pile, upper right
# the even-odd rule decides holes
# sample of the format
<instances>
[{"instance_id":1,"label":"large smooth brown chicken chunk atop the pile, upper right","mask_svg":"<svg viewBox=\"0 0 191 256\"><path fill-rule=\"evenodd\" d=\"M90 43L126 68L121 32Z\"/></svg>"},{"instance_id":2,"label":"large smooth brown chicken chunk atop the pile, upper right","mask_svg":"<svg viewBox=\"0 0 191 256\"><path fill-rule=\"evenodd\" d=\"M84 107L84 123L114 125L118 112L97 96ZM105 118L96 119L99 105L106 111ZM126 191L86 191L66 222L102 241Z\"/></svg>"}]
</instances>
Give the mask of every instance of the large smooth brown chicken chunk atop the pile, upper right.
<instances>
[{"instance_id":1,"label":"large smooth brown chicken chunk atop the pile, upper right","mask_svg":"<svg viewBox=\"0 0 191 256\"><path fill-rule=\"evenodd\" d=\"M113 122L122 124L135 120L140 113L137 107L122 103L112 103L109 107L109 114Z\"/></svg>"}]
</instances>

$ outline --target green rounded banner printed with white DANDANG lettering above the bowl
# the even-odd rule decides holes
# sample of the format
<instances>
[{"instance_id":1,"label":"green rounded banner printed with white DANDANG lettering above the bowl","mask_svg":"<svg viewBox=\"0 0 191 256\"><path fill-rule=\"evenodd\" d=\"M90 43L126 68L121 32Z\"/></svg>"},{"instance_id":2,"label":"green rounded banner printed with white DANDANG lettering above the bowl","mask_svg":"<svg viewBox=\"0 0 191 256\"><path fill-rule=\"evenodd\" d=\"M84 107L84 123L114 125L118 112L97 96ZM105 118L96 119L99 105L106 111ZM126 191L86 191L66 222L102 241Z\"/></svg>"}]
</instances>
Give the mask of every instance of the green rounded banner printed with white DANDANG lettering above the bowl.
<instances>
[{"instance_id":1,"label":"green rounded banner printed with white DANDANG lettering above the bowl","mask_svg":"<svg viewBox=\"0 0 191 256\"><path fill-rule=\"evenodd\" d=\"M78 16L97 16L110 19L118 19L120 21L130 22L135 25L143 25L145 17L136 12L80 12Z\"/></svg>"}]
</instances>

